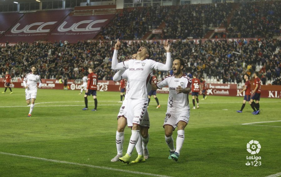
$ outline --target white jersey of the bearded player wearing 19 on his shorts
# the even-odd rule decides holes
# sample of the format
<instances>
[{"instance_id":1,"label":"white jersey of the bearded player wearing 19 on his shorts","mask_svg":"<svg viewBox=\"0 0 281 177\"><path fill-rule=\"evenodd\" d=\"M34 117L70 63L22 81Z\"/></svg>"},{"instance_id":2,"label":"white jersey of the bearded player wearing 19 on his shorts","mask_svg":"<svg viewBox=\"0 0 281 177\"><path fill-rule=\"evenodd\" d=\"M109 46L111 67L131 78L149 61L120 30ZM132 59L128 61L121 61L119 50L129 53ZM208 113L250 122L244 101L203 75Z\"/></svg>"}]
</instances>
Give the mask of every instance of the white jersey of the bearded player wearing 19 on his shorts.
<instances>
[{"instance_id":1,"label":"white jersey of the bearded player wearing 19 on his shorts","mask_svg":"<svg viewBox=\"0 0 281 177\"><path fill-rule=\"evenodd\" d=\"M156 83L156 86L161 89L164 86L169 87L169 99L167 105L167 111L178 112L190 110L188 94L177 94L176 88L180 85L183 89L189 87L191 89L191 79L187 75L183 74L181 78L175 78L175 75L166 76L161 81Z\"/></svg>"}]
</instances>

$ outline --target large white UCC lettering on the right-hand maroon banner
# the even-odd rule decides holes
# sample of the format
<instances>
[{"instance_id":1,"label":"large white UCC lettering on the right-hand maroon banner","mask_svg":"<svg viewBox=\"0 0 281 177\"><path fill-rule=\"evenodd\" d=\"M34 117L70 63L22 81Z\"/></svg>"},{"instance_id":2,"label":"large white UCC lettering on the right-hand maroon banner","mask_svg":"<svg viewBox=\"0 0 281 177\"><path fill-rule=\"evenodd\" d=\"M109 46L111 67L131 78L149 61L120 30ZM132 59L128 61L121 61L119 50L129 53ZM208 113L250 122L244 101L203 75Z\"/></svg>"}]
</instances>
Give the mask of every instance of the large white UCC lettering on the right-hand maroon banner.
<instances>
[{"instance_id":1,"label":"large white UCC lettering on the right-hand maroon banner","mask_svg":"<svg viewBox=\"0 0 281 177\"><path fill-rule=\"evenodd\" d=\"M69 28L63 28L67 22L64 21L58 28L57 30L59 32L67 32L67 31L74 31L74 32L77 32L77 31L97 31L97 30L100 30L101 28L92 28L92 26L96 23L104 23L106 22L107 19L105 20L96 20L96 21L93 21L93 20L84 20L84 21L81 21L81 22L78 22L78 23L73 23L71 25L71 27ZM78 28L79 25L83 24L83 23L89 23L87 25L86 28Z\"/></svg>"}]
</instances>

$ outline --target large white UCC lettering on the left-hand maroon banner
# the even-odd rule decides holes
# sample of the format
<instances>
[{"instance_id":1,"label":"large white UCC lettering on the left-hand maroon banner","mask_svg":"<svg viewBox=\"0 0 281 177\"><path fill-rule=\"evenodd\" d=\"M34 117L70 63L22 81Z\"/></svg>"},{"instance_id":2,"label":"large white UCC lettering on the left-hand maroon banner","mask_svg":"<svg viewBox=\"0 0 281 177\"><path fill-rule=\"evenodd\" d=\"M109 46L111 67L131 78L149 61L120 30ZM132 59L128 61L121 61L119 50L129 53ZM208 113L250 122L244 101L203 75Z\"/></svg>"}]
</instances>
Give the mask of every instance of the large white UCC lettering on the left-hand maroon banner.
<instances>
[{"instance_id":1,"label":"large white UCC lettering on the left-hand maroon banner","mask_svg":"<svg viewBox=\"0 0 281 177\"><path fill-rule=\"evenodd\" d=\"M24 28L20 29L20 30L17 30L17 27L19 27L21 24L20 23L17 23L11 30L12 33L21 33L21 32L24 32L24 33L47 33L47 32L50 32L50 29L42 29L43 27L47 26L47 25L53 25L57 22L47 22L47 23L44 23L44 22L38 22L38 23L32 23L30 25L26 25ZM30 30L31 27L33 26L38 26L40 25L36 30Z\"/></svg>"}]
</instances>

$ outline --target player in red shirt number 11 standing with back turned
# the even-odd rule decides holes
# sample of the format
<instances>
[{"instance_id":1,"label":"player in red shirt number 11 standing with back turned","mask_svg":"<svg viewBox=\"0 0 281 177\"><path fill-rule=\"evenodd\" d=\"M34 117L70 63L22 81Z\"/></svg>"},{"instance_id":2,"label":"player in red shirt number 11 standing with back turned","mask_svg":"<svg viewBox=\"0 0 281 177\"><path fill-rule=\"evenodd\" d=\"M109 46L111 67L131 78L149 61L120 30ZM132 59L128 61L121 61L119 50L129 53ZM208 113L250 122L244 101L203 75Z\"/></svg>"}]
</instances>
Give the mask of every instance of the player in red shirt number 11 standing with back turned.
<instances>
[{"instance_id":1,"label":"player in red shirt number 11 standing with back turned","mask_svg":"<svg viewBox=\"0 0 281 177\"><path fill-rule=\"evenodd\" d=\"M92 109L92 111L96 111L96 107L97 107L97 99L96 99L96 90L97 90L97 82L98 82L98 76L93 72L93 68L90 67L88 69L88 82L87 82L87 90L85 92L84 95L84 99L85 99L85 108L83 108L82 110L88 110L88 96L92 95L95 101L95 108Z\"/></svg>"}]
</instances>

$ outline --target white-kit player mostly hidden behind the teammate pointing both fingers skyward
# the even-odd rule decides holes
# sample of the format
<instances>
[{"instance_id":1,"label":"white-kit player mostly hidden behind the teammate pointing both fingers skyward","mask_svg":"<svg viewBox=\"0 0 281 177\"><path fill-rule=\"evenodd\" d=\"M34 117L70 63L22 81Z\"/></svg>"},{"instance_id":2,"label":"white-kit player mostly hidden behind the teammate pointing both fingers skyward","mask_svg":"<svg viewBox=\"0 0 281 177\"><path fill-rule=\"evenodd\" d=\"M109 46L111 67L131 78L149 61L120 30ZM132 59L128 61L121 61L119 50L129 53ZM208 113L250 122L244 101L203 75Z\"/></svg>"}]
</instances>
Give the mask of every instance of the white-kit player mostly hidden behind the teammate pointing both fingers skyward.
<instances>
[{"instance_id":1,"label":"white-kit player mostly hidden behind the teammate pointing both fingers skyward","mask_svg":"<svg viewBox=\"0 0 281 177\"><path fill-rule=\"evenodd\" d=\"M118 71L114 76L114 81L119 81L121 79L127 78L127 71L121 70ZM151 85L147 84L147 91L149 92L151 90ZM124 143L124 129L126 125L128 124L128 127L133 126L133 118L128 117L127 114L127 98L125 95L125 99L122 102L122 105L120 107L118 116L117 116L117 131L116 131L116 148L117 148L117 155L111 159L111 162L119 161L119 158L122 157L123 154L123 143ZM136 151L138 155L144 156L144 159L136 159L132 161L132 163L139 163L139 162L145 162L145 159L149 158L149 152L147 149L147 144L149 141L149 134L148 129L150 127L150 121L149 121L149 115L148 112L145 112L144 119L141 124L141 133L139 135L139 140L136 143ZM142 140L142 141L141 141Z\"/></svg>"}]
</instances>

